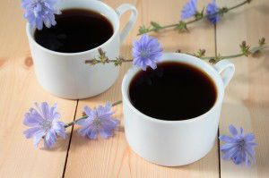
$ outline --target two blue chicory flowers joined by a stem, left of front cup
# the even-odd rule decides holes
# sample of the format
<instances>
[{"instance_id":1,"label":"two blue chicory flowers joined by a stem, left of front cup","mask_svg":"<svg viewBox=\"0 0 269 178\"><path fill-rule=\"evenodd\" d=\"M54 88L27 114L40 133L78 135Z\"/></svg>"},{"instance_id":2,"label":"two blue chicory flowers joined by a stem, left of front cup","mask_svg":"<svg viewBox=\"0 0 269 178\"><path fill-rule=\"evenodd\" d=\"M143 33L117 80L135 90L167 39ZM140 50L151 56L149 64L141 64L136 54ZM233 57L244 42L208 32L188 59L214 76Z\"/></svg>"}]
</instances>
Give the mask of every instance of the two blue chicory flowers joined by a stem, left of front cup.
<instances>
[{"instance_id":1,"label":"two blue chicory flowers joined by a stem, left of front cup","mask_svg":"<svg viewBox=\"0 0 269 178\"><path fill-rule=\"evenodd\" d=\"M24 115L23 124L30 129L23 131L26 139L33 138L34 145L38 147L40 140L44 140L45 148L52 148L57 137L65 139L65 128L78 124L82 128L78 131L80 135L87 136L90 140L97 139L97 134L108 139L113 136L113 131L117 128L119 121L112 117L111 105L99 106L91 109L84 107L86 116L65 124L59 121L60 114L56 111L56 105L49 107L47 102L36 103L36 108L30 108L29 112Z\"/></svg>"}]
</instances>

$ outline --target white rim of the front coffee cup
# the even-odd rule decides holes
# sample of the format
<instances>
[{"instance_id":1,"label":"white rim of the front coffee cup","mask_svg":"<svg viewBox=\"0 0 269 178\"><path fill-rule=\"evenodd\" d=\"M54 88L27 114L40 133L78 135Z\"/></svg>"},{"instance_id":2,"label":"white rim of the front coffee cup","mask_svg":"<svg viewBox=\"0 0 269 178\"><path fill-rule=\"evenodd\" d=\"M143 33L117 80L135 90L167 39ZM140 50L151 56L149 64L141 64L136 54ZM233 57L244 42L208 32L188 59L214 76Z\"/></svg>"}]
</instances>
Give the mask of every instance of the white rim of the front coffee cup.
<instances>
[{"instance_id":1,"label":"white rim of the front coffee cup","mask_svg":"<svg viewBox=\"0 0 269 178\"><path fill-rule=\"evenodd\" d=\"M179 58L179 60L177 59L177 57ZM221 75L213 68L213 66L211 66L210 64L207 64L202 59L199 59L193 55L187 55L187 54L182 54L182 53L164 53L161 56L161 62L170 61L170 62L183 62L183 63L190 64L189 61L191 60L195 62L195 64L191 64L191 65L195 65L195 67L198 67L200 70L202 70L203 72L206 72L208 75L209 75L208 71L213 72L214 78L216 78L214 79L213 76L209 75L209 77L211 77L217 89L217 98L214 105L206 113L196 116L194 118L190 118L187 120L178 120L178 121L161 120L161 119L157 119L149 115L143 114L142 112L140 112L138 109L136 109L133 106L129 98L129 91L128 91L129 84L134 79L135 74L141 71L141 69L138 69L134 66L131 67L131 69L129 69L128 72L126 72L124 79L122 81L121 92L122 92L123 105L126 105L129 109L131 109L134 112L134 114L139 115L141 119L151 121L153 123L175 124L175 123L192 123L192 122L200 121L201 119L204 120L206 118L206 115L212 114L217 109L217 107L221 105L222 99L224 97L224 85L221 80ZM201 66L198 66L198 64L204 65L206 69L202 68Z\"/></svg>"}]
</instances>

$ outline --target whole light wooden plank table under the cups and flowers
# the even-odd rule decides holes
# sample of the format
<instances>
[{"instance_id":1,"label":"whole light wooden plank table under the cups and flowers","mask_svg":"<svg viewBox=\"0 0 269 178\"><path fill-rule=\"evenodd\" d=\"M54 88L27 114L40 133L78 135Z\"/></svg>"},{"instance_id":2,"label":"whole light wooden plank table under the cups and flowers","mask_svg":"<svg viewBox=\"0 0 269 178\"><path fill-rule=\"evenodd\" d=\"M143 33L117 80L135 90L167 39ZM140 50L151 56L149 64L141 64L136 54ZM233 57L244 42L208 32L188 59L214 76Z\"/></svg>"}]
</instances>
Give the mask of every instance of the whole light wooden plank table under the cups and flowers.
<instances>
[{"instance_id":1,"label":"whole light wooden plank table under the cups and flowers","mask_svg":"<svg viewBox=\"0 0 269 178\"><path fill-rule=\"evenodd\" d=\"M187 0L107 0L116 8L119 4L135 4L139 18L134 30L121 47L121 55L131 57L131 46L138 27L150 21L169 24L178 21L179 12ZM210 0L199 1L199 6ZM217 1L218 4L238 4L239 0ZM0 177L269 177L269 53L260 58L239 57L230 60L236 74L226 89L222 106L220 134L227 134L230 123L243 126L256 134L256 164L249 169L220 159L219 142L203 159L191 165L164 167L138 157L128 147L124 131L110 140L89 141L79 137L77 127L68 128L68 138L58 140L53 149L34 148L22 131L23 114L35 101L58 104L65 122L82 115L82 107L97 106L121 99L120 85L130 64L121 67L114 86L105 93L83 100L53 97L39 86L34 74L30 49L25 33L20 1L0 2ZM121 19L127 20L127 14ZM205 48L207 55L237 54L239 43L251 45L257 39L269 39L269 1L255 0L225 15L216 27L207 21L190 26L189 33L166 30L152 33L160 39L165 51L195 52ZM122 106L116 106L116 116L123 124Z\"/></svg>"}]
</instances>

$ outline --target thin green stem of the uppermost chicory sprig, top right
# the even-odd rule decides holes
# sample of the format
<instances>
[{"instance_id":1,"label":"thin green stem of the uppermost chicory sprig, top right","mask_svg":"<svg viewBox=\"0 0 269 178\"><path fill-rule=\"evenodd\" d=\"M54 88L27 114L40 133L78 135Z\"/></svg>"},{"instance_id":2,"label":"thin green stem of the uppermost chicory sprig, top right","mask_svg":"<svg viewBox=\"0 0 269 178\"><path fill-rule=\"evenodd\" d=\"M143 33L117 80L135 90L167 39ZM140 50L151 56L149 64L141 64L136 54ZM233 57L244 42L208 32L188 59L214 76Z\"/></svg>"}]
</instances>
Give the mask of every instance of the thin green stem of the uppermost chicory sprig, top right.
<instances>
[{"instance_id":1,"label":"thin green stem of the uppermost chicory sprig, top right","mask_svg":"<svg viewBox=\"0 0 269 178\"><path fill-rule=\"evenodd\" d=\"M208 17L211 17L211 16L214 16L214 15L217 15L217 14L224 14L224 13L228 13L230 10L233 10L235 8L238 8L239 6L242 6L244 4L247 4L247 3L250 3L251 0L246 0L240 4L237 4L237 5L234 5L232 7L229 7L227 8L225 11L223 11L223 8L221 8L217 13L213 13L213 14L209 14L209 15L204 15L203 17L200 17L200 18L196 18L192 21L187 21L186 24L191 24L191 23L194 23L195 21L201 21L205 18L208 18ZM165 25L165 26L161 26L159 30L163 30L163 29L168 29L168 28L171 28L171 27L177 27L179 23L174 23L174 24L170 24L170 25ZM148 30L146 31L145 33L149 33L151 31L155 31L155 29L151 29L151 30ZM139 33L138 35L142 35L141 33Z\"/></svg>"}]
</instances>

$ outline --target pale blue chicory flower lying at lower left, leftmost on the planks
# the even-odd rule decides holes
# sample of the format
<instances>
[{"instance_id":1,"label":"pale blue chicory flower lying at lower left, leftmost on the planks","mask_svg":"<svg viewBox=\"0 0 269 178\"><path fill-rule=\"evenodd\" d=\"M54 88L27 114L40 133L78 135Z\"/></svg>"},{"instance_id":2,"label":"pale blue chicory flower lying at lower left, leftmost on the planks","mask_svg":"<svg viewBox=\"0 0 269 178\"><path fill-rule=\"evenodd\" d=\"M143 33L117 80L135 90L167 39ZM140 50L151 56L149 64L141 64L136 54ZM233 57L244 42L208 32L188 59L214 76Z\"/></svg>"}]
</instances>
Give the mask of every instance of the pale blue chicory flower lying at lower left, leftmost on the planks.
<instances>
[{"instance_id":1,"label":"pale blue chicory flower lying at lower left, leftmost on the planks","mask_svg":"<svg viewBox=\"0 0 269 178\"><path fill-rule=\"evenodd\" d=\"M30 108L29 113L24 115L23 124L31 128L23 131L23 134L27 139L33 138L36 147L43 138L44 147L52 148L57 135L65 139L65 123L58 121L60 114L56 112L56 104L49 107L47 102L43 102L35 103L35 106L36 108Z\"/></svg>"}]
</instances>

